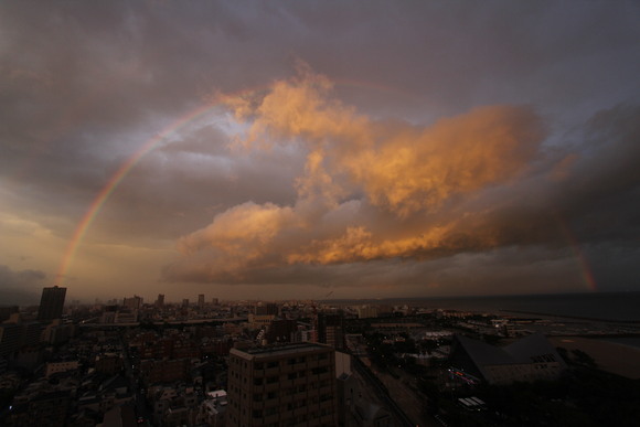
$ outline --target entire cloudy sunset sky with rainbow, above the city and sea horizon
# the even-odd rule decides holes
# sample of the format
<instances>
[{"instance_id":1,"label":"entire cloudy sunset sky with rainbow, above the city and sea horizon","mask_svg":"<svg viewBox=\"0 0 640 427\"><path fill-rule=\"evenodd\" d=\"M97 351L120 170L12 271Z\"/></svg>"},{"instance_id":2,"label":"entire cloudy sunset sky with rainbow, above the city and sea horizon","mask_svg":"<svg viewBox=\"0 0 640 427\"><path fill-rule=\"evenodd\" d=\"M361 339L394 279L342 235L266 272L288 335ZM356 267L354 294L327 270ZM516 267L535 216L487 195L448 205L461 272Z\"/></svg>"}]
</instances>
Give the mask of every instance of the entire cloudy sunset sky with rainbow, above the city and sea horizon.
<instances>
[{"instance_id":1,"label":"entire cloudy sunset sky with rainbow, above the city and sea horizon","mask_svg":"<svg viewBox=\"0 0 640 427\"><path fill-rule=\"evenodd\" d=\"M0 300L638 291L637 1L4 1Z\"/></svg>"}]
</instances>

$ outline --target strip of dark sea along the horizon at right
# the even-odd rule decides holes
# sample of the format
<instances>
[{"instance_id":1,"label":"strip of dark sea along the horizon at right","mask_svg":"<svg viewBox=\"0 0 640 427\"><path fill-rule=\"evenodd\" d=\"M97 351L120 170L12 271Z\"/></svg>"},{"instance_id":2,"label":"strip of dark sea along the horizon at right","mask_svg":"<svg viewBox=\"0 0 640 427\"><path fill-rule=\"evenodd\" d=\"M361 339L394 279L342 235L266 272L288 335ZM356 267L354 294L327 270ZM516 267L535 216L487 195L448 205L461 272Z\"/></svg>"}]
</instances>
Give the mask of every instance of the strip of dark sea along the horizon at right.
<instances>
[{"instance_id":1,"label":"strip of dark sea along the horizon at right","mask_svg":"<svg viewBox=\"0 0 640 427\"><path fill-rule=\"evenodd\" d=\"M461 298L392 298L358 301L358 303L366 302L386 303L392 306L409 305L481 312L511 310L594 320L640 322L640 292L593 292Z\"/></svg>"}]
</instances>

